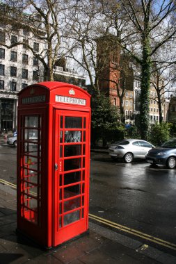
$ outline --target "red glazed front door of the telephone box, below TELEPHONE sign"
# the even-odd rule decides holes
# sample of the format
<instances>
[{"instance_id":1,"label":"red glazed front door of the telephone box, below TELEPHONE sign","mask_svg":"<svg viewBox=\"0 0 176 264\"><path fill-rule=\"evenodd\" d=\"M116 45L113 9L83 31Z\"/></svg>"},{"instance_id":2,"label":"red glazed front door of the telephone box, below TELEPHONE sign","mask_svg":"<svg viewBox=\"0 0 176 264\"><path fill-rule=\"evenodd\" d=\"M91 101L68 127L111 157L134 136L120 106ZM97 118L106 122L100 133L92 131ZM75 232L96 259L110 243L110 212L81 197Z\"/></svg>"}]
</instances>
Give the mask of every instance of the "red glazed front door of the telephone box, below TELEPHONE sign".
<instances>
[{"instance_id":1,"label":"red glazed front door of the telephone box, below TELEPHONE sign","mask_svg":"<svg viewBox=\"0 0 176 264\"><path fill-rule=\"evenodd\" d=\"M88 229L90 113L56 110L54 245Z\"/></svg>"}]
</instances>

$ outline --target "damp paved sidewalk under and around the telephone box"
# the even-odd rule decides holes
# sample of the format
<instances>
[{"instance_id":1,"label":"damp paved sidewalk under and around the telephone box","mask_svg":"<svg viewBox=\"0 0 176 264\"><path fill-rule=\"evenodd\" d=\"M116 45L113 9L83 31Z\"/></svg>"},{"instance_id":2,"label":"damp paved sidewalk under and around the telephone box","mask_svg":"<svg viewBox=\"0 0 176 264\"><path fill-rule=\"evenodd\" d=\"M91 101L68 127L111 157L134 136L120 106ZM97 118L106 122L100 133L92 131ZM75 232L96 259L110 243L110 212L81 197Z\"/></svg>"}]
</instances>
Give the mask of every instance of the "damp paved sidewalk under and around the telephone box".
<instances>
[{"instance_id":1,"label":"damp paved sidewalk under and around the telephone box","mask_svg":"<svg viewBox=\"0 0 176 264\"><path fill-rule=\"evenodd\" d=\"M176 257L90 222L89 235L49 251L17 238L16 191L0 183L0 264L175 264Z\"/></svg>"}]
</instances>

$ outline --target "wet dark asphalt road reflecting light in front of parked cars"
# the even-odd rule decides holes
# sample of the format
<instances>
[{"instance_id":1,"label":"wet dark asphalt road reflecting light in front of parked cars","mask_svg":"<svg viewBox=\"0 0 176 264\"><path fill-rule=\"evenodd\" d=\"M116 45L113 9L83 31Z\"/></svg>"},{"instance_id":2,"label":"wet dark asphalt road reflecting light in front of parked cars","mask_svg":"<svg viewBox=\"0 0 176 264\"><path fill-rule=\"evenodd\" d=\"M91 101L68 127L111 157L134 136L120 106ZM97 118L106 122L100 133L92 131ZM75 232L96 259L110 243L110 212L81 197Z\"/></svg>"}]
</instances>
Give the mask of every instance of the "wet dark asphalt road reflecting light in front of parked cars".
<instances>
[{"instance_id":1,"label":"wet dark asphalt road reflecting light in front of parked cars","mask_svg":"<svg viewBox=\"0 0 176 264\"><path fill-rule=\"evenodd\" d=\"M0 179L16 184L16 149L0 147ZM145 239L143 233L175 244L176 254L176 170L152 167L143 161L131 164L112 161L108 154L91 154L90 214L113 231L173 254L172 249ZM142 233L116 229L104 220Z\"/></svg>"}]
</instances>

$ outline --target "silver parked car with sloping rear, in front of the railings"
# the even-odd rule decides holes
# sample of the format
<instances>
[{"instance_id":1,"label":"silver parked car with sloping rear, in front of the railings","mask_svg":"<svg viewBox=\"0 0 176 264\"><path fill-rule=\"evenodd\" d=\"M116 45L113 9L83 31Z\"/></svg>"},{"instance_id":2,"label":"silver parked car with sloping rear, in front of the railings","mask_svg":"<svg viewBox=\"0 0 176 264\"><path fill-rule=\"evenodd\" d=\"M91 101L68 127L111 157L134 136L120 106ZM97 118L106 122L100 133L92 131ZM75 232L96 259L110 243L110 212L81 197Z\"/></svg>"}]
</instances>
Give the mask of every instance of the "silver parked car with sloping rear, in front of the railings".
<instances>
[{"instance_id":1,"label":"silver parked car with sloping rear, in front of the railings","mask_svg":"<svg viewBox=\"0 0 176 264\"><path fill-rule=\"evenodd\" d=\"M120 140L109 147L109 155L113 159L123 158L125 163L131 163L134 158L145 158L147 152L153 147L145 140Z\"/></svg>"}]
</instances>

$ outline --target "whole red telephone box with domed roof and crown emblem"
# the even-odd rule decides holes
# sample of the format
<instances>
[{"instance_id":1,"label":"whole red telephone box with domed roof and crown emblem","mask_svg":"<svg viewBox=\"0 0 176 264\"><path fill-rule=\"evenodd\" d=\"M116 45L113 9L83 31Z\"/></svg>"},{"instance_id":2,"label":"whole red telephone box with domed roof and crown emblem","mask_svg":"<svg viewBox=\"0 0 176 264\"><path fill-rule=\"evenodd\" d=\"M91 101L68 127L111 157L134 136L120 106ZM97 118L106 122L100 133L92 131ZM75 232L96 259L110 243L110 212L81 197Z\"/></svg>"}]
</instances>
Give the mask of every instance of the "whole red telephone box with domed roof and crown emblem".
<instances>
[{"instance_id":1,"label":"whole red telephone box with domed roof and crown emblem","mask_svg":"<svg viewBox=\"0 0 176 264\"><path fill-rule=\"evenodd\" d=\"M17 231L55 247L88 231L90 94L59 82L19 92Z\"/></svg>"}]
</instances>

